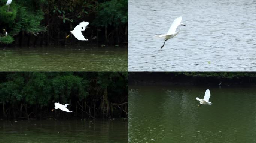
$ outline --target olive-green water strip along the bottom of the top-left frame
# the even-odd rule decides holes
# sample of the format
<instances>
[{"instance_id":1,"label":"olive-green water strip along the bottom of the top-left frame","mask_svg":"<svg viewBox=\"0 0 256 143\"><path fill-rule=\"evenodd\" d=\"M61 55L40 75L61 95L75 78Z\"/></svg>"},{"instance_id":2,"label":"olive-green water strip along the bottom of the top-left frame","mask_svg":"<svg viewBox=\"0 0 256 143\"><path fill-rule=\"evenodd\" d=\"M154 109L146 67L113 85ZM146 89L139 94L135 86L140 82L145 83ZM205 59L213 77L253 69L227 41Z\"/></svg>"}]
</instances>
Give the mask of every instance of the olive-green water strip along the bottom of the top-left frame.
<instances>
[{"instance_id":1,"label":"olive-green water strip along the bottom of the top-left frame","mask_svg":"<svg viewBox=\"0 0 256 143\"><path fill-rule=\"evenodd\" d=\"M127 47L0 48L0 71L127 71Z\"/></svg>"}]
</instances>

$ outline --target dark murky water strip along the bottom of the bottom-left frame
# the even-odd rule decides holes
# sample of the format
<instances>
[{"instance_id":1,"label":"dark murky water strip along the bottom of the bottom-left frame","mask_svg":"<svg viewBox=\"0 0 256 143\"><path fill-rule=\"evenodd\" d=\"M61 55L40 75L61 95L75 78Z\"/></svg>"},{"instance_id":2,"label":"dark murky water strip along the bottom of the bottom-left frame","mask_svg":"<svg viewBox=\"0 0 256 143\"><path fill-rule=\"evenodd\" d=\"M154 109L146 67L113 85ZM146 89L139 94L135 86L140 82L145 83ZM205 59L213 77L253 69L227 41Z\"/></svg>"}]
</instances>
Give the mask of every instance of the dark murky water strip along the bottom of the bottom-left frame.
<instances>
[{"instance_id":1,"label":"dark murky water strip along the bottom of the bottom-left frame","mask_svg":"<svg viewBox=\"0 0 256 143\"><path fill-rule=\"evenodd\" d=\"M127 121L0 121L1 143L126 143Z\"/></svg>"}]
</instances>

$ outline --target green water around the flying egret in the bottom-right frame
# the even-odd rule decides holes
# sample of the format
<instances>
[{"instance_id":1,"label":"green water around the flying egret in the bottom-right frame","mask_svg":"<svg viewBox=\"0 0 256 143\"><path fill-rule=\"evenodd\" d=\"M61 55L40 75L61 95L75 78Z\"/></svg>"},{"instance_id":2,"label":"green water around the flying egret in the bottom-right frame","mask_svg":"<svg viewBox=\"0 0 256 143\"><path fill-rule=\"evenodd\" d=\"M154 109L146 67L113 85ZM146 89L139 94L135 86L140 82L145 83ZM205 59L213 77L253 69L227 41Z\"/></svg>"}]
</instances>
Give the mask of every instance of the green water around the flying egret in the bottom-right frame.
<instances>
[{"instance_id":1,"label":"green water around the flying egret in the bottom-right frame","mask_svg":"<svg viewBox=\"0 0 256 143\"><path fill-rule=\"evenodd\" d=\"M130 143L256 142L255 87L129 86L128 100Z\"/></svg>"}]
</instances>

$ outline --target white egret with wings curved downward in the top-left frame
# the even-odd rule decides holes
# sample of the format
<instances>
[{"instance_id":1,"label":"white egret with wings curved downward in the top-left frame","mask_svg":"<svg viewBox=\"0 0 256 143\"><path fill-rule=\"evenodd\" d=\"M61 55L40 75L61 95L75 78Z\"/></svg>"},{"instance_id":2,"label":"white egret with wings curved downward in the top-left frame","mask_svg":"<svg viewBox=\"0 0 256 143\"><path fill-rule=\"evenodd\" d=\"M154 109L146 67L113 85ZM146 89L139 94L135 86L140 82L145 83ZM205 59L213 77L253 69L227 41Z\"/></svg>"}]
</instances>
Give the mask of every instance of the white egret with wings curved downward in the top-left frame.
<instances>
[{"instance_id":1,"label":"white egret with wings curved downward in the top-left frame","mask_svg":"<svg viewBox=\"0 0 256 143\"><path fill-rule=\"evenodd\" d=\"M83 40L83 41L87 41L88 39L85 39L85 37L82 34L82 31L85 31L85 28L87 28L87 25L89 24L89 22L87 21L83 21L81 22L79 25L77 25L74 30L70 31L71 34L73 34L77 40ZM70 36L67 35L66 38L68 38Z\"/></svg>"}]
</instances>

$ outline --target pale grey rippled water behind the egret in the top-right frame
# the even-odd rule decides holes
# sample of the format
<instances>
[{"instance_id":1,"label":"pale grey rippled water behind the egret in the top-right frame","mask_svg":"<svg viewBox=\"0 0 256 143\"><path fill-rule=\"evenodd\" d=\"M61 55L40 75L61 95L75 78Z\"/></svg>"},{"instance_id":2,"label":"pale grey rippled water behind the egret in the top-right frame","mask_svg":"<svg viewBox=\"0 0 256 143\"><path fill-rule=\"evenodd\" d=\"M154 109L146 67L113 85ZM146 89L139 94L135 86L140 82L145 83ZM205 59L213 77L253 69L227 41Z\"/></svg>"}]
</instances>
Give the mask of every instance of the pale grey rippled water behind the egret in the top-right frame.
<instances>
[{"instance_id":1,"label":"pale grey rippled water behind the egret in the top-right frame","mask_svg":"<svg viewBox=\"0 0 256 143\"><path fill-rule=\"evenodd\" d=\"M129 71L256 71L256 1L129 0ZM166 41L177 16L180 33Z\"/></svg>"}]
</instances>

